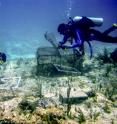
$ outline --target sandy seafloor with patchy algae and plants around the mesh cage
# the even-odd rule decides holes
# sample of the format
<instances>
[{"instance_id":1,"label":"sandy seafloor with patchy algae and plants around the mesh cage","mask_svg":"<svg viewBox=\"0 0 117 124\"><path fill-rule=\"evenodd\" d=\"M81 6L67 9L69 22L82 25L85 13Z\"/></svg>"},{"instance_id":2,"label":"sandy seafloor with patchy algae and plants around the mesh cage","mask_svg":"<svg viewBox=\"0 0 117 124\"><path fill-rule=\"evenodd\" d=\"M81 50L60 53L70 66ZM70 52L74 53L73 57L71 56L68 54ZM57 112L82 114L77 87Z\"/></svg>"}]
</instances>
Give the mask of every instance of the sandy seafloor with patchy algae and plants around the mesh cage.
<instances>
[{"instance_id":1,"label":"sandy seafloor with patchy algae and plants around the mesh cage","mask_svg":"<svg viewBox=\"0 0 117 124\"><path fill-rule=\"evenodd\" d=\"M36 75L35 58L7 61L0 66L0 124L117 124L117 66L100 61L85 57L82 74L57 76ZM68 83L79 96L93 95L71 104L67 116L59 97Z\"/></svg>"}]
</instances>

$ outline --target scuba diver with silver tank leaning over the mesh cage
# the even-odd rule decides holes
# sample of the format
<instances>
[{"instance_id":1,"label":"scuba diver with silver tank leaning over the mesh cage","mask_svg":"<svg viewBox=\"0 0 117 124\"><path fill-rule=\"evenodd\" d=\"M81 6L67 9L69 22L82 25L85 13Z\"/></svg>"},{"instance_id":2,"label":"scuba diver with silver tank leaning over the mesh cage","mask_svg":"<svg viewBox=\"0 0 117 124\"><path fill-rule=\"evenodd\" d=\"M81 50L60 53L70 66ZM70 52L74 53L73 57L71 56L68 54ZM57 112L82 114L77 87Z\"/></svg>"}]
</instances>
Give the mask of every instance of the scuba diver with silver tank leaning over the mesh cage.
<instances>
[{"instance_id":1,"label":"scuba diver with silver tank leaning over the mesh cage","mask_svg":"<svg viewBox=\"0 0 117 124\"><path fill-rule=\"evenodd\" d=\"M117 29L117 24L113 24L112 27L100 32L93 27L101 26L103 23L102 18L92 17L75 17L70 18L68 24L62 23L58 26L58 32L64 35L64 38L59 42L58 47L65 48L79 48L81 55L84 55L84 42L86 41L90 48L92 58L92 47L89 41L97 40L105 43L117 43L117 37L108 35L110 32ZM67 41L70 41L70 45L65 45Z\"/></svg>"}]
</instances>

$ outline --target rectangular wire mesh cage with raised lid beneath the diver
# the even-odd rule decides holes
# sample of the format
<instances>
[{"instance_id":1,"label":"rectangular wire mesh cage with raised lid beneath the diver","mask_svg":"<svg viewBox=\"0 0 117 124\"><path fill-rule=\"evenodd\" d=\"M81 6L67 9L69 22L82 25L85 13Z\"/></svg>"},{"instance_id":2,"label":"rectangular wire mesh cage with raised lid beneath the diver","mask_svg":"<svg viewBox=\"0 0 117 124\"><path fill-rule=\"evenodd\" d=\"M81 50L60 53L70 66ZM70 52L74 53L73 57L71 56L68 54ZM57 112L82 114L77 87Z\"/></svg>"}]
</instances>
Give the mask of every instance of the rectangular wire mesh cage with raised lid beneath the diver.
<instances>
[{"instance_id":1,"label":"rectangular wire mesh cage with raised lid beneath the diver","mask_svg":"<svg viewBox=\"0 0 117 124\"><path fill-rule=\"evenodd\" d=\"M44 36L46 40L51 43L52 47L43 47L37 49L37 75L44 71L43 74L50 76L52 70L55 71L54 74L57 74L58 72L59 74L72 74L77 73L77 68L79 72L81 72L84 59L79 59L79 52L76 49L58 49L58 43L54 34L46 32ZM48 65L53 67L50 69L48 69L49 67L44 68ZM42 69L42 67L44 69ZM66 69L63 69L64 67L66 67Z\"/></svg>"}]
</instances>

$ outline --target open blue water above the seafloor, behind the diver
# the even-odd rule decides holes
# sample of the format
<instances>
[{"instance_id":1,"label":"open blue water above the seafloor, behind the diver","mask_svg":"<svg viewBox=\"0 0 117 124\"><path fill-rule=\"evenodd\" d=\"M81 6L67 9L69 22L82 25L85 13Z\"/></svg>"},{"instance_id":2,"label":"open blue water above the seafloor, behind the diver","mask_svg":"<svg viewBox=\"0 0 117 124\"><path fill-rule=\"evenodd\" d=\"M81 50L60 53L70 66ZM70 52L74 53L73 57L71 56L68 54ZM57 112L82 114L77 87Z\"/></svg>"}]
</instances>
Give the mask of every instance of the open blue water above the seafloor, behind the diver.
<instances>
[{"instance_id":1,"label":"open blue water above the seafloor, behind the diver","mask_svg":"<svg viewBox=\"0 0 117 124\"><path fill-rule=\"evenodd\" d=\"M68 21L68 12L71 17L103 17L104 24L98 29L104 31L117 22L117 0L0 0L0 51L8 59L35 56L38 47L50 45L44 39L46 31L62 39L57 26ZM96 48L100 45L93 43Z\"/></svg>"}]
</instances>

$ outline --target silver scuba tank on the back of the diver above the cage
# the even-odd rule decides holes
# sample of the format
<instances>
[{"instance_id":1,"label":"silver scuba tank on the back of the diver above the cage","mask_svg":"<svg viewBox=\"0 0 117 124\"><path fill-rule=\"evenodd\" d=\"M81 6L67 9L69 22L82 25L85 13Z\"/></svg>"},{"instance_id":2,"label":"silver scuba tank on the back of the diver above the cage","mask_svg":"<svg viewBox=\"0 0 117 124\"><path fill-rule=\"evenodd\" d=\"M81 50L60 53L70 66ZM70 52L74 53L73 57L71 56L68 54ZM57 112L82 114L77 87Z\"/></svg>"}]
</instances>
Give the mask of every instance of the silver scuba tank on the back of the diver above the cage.
<instances>
[{"instance_id":1,"label":"silver scuba tank on the back of the diver above the cage","mask_svg":"<svg viewBox=\"0 0 117 124\"><path fill-rule=\"evenodd\" d=\"M74 22L80 21L83 17L82 16L75 16L73 18ZM95 26L101 26L103 24L103 18L96 18L96 17L86 17L88 19L90 19Z\"/></svg>"}]
</instances>

